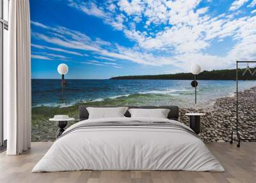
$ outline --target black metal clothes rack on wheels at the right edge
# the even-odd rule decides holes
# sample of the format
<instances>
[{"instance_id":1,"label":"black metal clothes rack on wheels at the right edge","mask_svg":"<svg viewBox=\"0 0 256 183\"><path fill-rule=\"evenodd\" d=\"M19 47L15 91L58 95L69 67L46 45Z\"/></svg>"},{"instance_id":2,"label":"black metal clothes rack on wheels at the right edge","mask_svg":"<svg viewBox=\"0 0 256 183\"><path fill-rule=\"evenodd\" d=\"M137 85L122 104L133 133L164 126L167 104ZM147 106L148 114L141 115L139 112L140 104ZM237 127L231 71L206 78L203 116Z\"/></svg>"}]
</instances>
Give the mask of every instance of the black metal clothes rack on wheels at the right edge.
<instances>
[{"instance_id":1,"label":"black metal clothes rack on wheels at the right edge","mask_svg":"<svg viewBox=\"0 0 256 183\"><path fill-rule=\"evenodd\" d=\"M233 143L233 134L234 132L236 133L237 135L237 147L240 147L240 143L241 141L256 141L256 139L248 139L248 138L241 138L241 134L239 132L239 119L238 119L238 81L239 81L239 78L238 78L238 64L239 63L256 63L256 61L236 61L236 130L232 130L231 131L231 140L230 140L230 143Z\"/></svg>"}]
</instances>

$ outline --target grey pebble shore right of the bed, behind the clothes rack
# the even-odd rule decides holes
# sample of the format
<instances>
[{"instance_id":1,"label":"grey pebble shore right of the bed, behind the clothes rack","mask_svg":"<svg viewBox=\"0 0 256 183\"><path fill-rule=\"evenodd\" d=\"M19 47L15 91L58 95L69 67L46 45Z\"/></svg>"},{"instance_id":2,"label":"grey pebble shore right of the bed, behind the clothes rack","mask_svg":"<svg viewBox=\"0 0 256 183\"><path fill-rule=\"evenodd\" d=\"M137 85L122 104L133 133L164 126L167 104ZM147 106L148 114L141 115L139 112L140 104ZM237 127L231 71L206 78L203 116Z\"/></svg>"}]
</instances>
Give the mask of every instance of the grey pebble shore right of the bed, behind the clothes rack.
<instances>
[{"instance_id":1,"label":"grey pebble shore right of the bed, behind the clothes rack","mask_svg":"<svg viewBox=\"0 0 256 183\"><path fill-rule=\"evenodd\" d=\"M236 129L236 96L216 99L205 108L181 108L179 121L189 125L185 113L205 113L201 118L203 141L230 141L230 132ZM243 138L256 138L256 87L239 92L239 129Z\"/></svg>"}]
</instances>

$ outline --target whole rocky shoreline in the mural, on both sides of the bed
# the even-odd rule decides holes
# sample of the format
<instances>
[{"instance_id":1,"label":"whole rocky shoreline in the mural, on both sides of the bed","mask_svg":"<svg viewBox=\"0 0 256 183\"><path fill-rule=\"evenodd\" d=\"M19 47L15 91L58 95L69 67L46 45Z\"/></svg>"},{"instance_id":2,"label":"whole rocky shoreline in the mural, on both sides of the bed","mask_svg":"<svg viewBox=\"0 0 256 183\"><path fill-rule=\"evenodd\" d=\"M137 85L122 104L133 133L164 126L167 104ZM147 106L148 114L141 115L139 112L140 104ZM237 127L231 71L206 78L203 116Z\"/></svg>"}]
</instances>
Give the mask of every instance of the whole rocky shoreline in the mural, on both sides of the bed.
<instances>
[{"instance_id":1,"label":"whole rocky shoreline in the mural, on both sides of the bed","mask_svg":"<svg viewBox=\"0 0 256 183\"><path fill-rule=\"evenodd\" d=\"M48 119L52 117L52 114L65 114L77 118L78 106L82 104L70 107L33 107L31 141L54 141L56 139L56 123L49 122ZM102 102L97 104L99 106L104 105ZM90 103L86 103L86 105L90 105ZM216 99L214 104L209 104L207 107L180 108L179 121L189 125L189 118L185 115L189 112L205 113L205 116L201 118L201 132L199 134L203 141L230 141L230 131L236 128L235 95ZM77 121L68 123L68 126ZM239 129L243 138L256 138L255 121L256 87L253 87L239 92Z\"/></svg>"}]
</instances>

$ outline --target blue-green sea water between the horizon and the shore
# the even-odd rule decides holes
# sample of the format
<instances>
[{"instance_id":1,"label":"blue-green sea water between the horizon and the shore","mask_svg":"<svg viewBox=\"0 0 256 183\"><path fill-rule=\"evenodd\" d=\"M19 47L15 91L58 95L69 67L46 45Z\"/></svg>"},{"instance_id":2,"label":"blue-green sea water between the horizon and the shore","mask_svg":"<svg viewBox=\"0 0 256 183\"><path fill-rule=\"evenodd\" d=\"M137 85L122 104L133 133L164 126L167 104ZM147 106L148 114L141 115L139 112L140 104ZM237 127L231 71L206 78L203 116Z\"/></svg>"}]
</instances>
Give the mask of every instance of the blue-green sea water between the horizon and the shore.
<instances>
[{"instance_id":1,"label":"blue-green sea water between the horizon and the shore","mask_svg":"<svg viewBox=\"0 0 256 183\"><path fill-rule=\"evenodd\" d=\"M65 103L61 104L60 79L32 79L32 107L90 105L170 105L192 107L195 89L188 80L67 79ZM239 81L239 91L256 86L256 81ZM235 81L198 81L199 106L213 104L220 97L234 95Z\"/></svg>"}]
</instances>

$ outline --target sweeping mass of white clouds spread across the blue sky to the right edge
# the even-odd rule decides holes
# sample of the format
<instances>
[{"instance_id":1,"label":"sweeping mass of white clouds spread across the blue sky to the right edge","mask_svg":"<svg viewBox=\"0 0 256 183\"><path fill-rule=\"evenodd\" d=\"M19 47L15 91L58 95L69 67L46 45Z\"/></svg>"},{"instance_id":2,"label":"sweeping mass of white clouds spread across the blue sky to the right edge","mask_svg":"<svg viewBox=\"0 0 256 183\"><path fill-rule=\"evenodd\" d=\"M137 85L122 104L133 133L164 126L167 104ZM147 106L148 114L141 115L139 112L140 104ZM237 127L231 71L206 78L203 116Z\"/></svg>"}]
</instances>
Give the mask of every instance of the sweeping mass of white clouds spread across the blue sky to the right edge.
<instances>
[{"instance_id":1,"label":"sweeping mass of white clouds spread across the blue sky to the right edge","mask_svg":"<svg viewBox=\"0 0 256 183\"><path fill-rule=\"evenodd\" d=\"M236 12L232 11L216 15L210 12L208 6L198 9L200 1L196 0L120 0L110 4L94 3L93 6L90 1L85 4L80 2L82 1L72 1L72 6L81 11L84 6L97 7L102 11L101 15L90 15L123 31L127 38L135 42L132 48L120 47L61 27L52 28L52 35L36 35L49 44L97 54L99 56L95 58L102 60L100 63L88 64L108 65L103 60L126 60L141 65L174 65L180 71L188 72L191 63L200 63L203 68L211 70L232 67L234 60L239 58L255 58L255 15L245 15L242 12L237 17ZM245 1L234 1L232 6L238 10L244 4ZM131 9L133 6L136 8ZM89 15L88 12L84 13ZM44 25L38 26L44 28ZM214 42L225 41L226 38L230 39L233 47L229 47L225 56L205 53Z\"/></svg>"}]
</instances>

